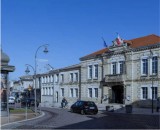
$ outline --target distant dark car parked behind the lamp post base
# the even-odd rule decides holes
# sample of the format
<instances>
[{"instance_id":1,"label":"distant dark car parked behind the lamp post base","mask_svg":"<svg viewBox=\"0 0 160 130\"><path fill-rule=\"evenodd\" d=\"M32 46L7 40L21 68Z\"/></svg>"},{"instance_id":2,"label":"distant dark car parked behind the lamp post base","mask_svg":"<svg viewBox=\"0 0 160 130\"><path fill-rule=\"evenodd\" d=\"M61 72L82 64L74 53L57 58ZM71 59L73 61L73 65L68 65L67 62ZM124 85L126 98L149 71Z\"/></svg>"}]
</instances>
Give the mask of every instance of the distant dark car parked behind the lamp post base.
<instances>
[{"instance_id":1,"label":"distant dark car parked behind the lamp post base","mask_svg":"<svg viewBox=\"0 0 160 130\"><path fill-rule=\"evenodd\" d=\"M28 106L28 107L31 107L31 106L34 106L35 104L35 99L34 98L24 98L21 100L21 105L22 106ZM39 105L39 102L36 103L37 104L37 107Z\"/></svg>"}]
</instances>

